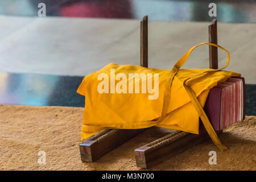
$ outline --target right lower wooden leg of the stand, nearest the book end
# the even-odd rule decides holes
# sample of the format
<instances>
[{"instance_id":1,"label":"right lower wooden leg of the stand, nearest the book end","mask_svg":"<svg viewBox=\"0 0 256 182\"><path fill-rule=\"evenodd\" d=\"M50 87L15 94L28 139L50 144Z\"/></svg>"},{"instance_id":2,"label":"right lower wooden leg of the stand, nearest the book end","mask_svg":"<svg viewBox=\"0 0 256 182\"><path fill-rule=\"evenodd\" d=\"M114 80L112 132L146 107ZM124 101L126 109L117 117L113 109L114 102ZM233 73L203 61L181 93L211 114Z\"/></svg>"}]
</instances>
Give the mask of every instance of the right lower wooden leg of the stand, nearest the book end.
<instances>
[{"instance_id":1,"label":"right lower wooden leg of the stand, nearest the book end","mask_svg":"<svg viewBox=\"0 0 256 182\"><path fill-rule=\"evenodd\" d=\"M175 131L172 134L168 134L165 137L135 149L137 167L149 168L154 166L209 138L206 131L201 131L199 135Z\"/></svg>"}]
</instances>

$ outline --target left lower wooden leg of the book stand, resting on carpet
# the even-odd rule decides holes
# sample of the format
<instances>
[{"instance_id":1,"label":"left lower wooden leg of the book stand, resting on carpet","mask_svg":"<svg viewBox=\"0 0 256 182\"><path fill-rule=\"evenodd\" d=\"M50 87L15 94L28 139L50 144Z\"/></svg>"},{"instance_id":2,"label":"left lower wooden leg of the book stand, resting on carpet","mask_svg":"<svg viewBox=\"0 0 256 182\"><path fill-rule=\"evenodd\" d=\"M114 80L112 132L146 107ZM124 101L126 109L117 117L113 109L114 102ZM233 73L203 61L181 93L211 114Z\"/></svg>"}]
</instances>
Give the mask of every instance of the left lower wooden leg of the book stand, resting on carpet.
<instances>
[{"instance_id":1,"label":"left lower wooden leg of the book stand, resting on carpet","mask_svg":"<svg viewBox=\"0 0 256 182\"><path fill-rule=\"evenodd\" d=\"M101 156L108 154L127 140L135 137L144 129L137 130L103 130L84 140L80 144L82 162L94 162Z\"/></svg>"}]
</instances>

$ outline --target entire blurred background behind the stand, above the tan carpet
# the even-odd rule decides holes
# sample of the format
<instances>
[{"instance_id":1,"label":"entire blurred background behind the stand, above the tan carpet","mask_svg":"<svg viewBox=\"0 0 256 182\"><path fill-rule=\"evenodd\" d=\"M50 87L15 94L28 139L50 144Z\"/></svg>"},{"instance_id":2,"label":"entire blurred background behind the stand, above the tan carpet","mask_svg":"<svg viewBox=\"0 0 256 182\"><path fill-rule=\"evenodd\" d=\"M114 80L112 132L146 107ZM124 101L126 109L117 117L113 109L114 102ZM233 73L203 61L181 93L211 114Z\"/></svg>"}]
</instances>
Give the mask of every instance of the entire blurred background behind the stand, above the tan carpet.
<instances>
[{"instance_id":1,"label":"entire blurred background behind the stand, above the tan carpet","mask_svg":"<svg viewBox=\"0 0 256 182\"><path fill-rule=\"evenodd\" d=\"M46 17L39 17L39 3ZM216 3L217 16L208 12ZM171 69L208 42L230 52L227 70L246 81L247 115L256 115L256 1L0 0L0 104L84 106L82 78L109 63L139 65L139 22L148 15L148 66ZM219 67L226 53L218 51ZM183 68L209 68L208 46Z\"/></svg>"}]
</instances>

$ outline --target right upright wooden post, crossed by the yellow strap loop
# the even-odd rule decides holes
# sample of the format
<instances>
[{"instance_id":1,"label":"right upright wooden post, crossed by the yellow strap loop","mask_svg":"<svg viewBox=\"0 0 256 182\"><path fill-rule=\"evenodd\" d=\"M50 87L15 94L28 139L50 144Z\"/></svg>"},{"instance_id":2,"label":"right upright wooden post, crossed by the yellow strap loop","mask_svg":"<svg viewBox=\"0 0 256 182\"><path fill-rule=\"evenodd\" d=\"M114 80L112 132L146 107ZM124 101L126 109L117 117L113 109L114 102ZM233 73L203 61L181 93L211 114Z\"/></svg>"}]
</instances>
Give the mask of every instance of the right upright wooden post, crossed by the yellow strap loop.
<instances>
[{"instance_id":1,"label":"right upright wooden post, crossed by the yellow strap loop","mask_svg":"<svg viewBox=\"0 0 256 182\"><path fill-rule=\"evenodd\" d=\"M217 20L214 19L211 24L209 24L209 43L218 44L217 41ZM214 46L209 46L209 61L210 68L218 69L218 48Z\"/></svg>"}]
</instances>

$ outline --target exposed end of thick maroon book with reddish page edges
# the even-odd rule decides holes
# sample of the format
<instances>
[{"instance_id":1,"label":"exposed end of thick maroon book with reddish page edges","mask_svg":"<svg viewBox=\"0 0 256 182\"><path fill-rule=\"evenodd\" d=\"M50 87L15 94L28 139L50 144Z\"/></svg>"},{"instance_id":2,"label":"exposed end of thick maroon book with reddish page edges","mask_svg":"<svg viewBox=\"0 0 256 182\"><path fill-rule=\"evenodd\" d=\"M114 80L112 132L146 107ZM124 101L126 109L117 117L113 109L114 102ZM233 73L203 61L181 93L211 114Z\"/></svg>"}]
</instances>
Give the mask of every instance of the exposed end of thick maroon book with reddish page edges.
<instances>
[{"instance_id":1,"label":"exposed end of thick maroon book with reddish page edges","mask_svg":"<svg viewBox=\"0 0 256 182\"><path fill-rule=\"evenodd\" d=\"M232 77L210 89L204 111L216 131L244 119L245 79Z\"/></svg>"}]
</instances>

